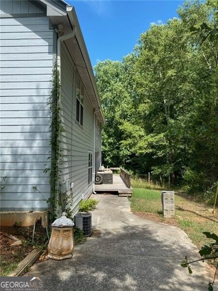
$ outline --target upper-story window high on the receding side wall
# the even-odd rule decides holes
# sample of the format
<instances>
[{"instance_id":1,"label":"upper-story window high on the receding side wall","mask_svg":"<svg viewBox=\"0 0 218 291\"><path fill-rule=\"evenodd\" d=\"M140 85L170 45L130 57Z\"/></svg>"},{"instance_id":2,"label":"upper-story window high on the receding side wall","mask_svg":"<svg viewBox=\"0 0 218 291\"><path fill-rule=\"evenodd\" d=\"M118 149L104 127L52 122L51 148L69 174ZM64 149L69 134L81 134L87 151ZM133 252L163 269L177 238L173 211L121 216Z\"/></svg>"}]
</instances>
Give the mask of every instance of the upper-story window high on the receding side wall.
<instances>
[{"instance_id":1,"label":"upper-story window high on the receding side wall","mask_svg":"<svg viewBox=\"0 0 218 291\"><path fill-rule=\"evenodd\" d=\"M84 87L77 75L77 91L76 91L76 120L83 126L83 100L84 100Z\"/></svg>"}]
</instances>

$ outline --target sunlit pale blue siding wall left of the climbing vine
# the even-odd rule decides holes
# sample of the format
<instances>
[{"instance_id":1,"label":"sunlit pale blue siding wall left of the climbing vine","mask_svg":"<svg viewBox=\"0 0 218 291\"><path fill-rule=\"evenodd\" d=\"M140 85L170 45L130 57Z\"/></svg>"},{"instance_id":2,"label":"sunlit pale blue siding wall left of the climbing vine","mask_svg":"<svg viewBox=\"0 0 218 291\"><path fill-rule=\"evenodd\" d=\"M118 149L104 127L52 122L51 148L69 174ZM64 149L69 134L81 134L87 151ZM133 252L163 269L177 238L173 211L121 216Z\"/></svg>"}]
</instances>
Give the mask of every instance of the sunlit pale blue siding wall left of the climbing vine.
<instances>
[{"instance_id":1,"label":"sunlit pale blue siding wall left of the climbing vine","mask_svg":"<svg viewBox=\"0 0 218 291\"><path fill-rule=\"evenodd\" d=\"M43 170L50 156L54 32L30 2L0 5L0 176L6 176L0 210L44 210L46 201L32 187L50 196ZM22 16L6 15L12 13Z\"/></svg>"}]
</instances>

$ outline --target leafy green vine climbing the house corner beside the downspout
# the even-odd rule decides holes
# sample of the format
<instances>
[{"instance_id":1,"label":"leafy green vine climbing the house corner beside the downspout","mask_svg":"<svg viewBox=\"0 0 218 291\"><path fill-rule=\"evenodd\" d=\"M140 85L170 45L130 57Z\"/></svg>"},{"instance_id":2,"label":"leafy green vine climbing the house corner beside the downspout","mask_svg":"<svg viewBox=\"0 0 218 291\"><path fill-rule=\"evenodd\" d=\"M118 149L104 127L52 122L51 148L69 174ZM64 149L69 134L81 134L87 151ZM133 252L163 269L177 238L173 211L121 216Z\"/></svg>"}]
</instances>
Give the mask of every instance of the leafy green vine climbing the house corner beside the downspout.
<instances>
[{"instance_id":1,"label":"leafy green vine climbing the house corner beside the downspout","mask_svg":"<svg viewBox=\"0 0 218 291\"><path fill-rule=\"evenodd\" d=\"M73 218L73 193L59 194L59 181L61 180L61 165L64 163L64 157L66 157L66 149L62 148L60 136L65 129L62 125L61 119L61 81L60 81L60 71L57 61L54 64L52 71L52 91L48 98L48 105L51 111L51 124L50 124L50 146L51 155L47 159L50 160L50 166L46 167L43 173L49 173L50 185L51 185L51 195L48 199L45 199L43 194L38 190L36 186L32 188L38 191L47 201L50 209L49 220L53 222L57 217L59 211L64 211L68 218ZM47 164L46 164L47 165Z\"/></svg>"}]
</instances>

